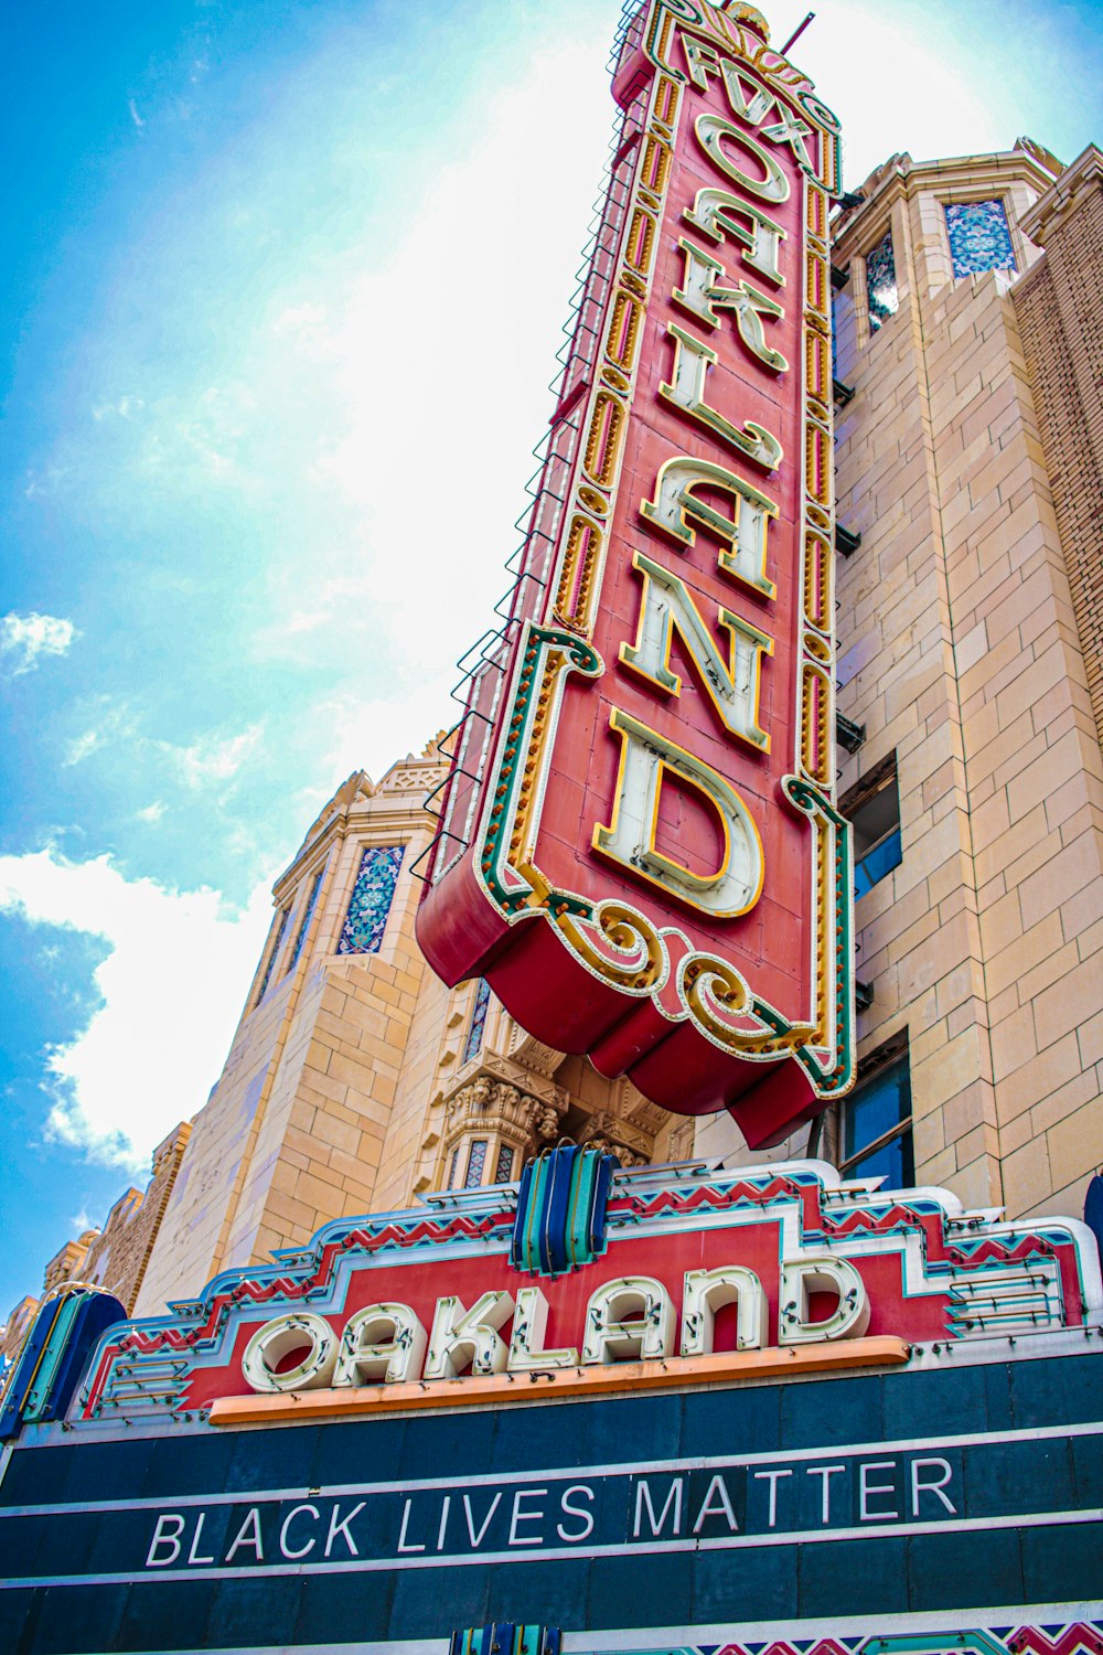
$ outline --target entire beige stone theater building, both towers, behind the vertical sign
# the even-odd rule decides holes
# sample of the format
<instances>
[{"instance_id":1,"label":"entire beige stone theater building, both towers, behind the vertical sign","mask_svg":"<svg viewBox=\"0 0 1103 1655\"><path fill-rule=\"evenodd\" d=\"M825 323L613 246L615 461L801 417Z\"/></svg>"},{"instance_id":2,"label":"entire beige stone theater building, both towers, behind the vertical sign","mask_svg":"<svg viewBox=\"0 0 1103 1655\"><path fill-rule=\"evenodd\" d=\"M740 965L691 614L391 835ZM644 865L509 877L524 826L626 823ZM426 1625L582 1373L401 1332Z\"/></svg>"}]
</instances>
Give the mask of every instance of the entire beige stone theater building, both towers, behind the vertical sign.
<instances>
[{"instance_id":1,"label":"entire beige stone theater building, both towers, behind the vertical sign","mask_svg":"<svg viewBox=\"0 0 1103 1655\"><path fill-rule=\"evenodd\" d=\"M1009 1216L1080 1210L1103 1160L1101 230L1098 151L1065 169L1027 139L893 156L835 218L852 1097L751 1155L726 1115L666 1115L532 1041L486 985L446 990L413 937L430 743L351 776L276 882L139 1314L331 1218L516 1178L564 1137L622 1162L820 1154Z\"/></svg>"}]
</instances>

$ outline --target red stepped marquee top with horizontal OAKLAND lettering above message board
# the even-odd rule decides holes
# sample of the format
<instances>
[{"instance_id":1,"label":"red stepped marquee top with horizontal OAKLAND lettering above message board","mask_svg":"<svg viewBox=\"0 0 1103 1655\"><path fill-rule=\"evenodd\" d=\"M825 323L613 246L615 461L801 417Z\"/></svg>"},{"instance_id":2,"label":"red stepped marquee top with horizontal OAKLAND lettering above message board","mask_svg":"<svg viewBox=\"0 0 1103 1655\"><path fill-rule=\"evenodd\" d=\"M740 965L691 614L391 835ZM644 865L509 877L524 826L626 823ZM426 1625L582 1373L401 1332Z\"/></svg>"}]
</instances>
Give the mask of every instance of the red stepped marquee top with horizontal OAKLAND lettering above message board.
<instances>
[{"instance_id":1,"label":"red stepped marquee top with horizontal OAKLAND lettering above message board","mask_svg":"<svg viewBox=\"0 0 1103 1655\"><path fill-rule=\"evenodd\" d=\"M1103 1307L1085 1225L996 1223L944 1190L840 1185L822 1162L615 1172L575 1261L551 1271L524 1250L531 1215L532 1180L334 1221L172 1316L109 1329L69 1417L273 1423L506 1405L532 1384L572 1397L881 1369Z\"/></svg>"}]
</instances>

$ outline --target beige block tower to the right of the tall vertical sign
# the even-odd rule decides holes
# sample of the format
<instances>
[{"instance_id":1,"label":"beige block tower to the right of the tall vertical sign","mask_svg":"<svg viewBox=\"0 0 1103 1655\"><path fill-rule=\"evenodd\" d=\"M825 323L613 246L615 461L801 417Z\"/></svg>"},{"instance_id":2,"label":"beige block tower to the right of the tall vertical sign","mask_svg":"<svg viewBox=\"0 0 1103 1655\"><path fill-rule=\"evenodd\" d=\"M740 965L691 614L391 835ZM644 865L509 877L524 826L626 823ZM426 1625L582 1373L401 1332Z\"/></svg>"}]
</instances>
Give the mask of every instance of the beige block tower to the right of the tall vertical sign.
<instances>
[{"instance_id":1,"label":"beige block tower to the right of the tall vertical sign","mask_svg":"<svg viewBox=\"0 0 1103 1655\"><path fill-rule=\"evenodd\" d=\"M1098 295L1103 195L1086 170ZM1042 204L1065 200L1067 175L1055 182L1035 146L893 157L863 194L835 240L848 271L837 374L855 391L837 415L838 516L862 535L838 578L838 707L865 727L840 788L896 755L903 856L857 905L858 976L875 993L860 1053L908 1031L919 1183L1010 1215L1078 1211L1103 1154L1103 763L1088 692L1103 588L1100 513L1088 523L1080 495L1095 450L1070 384L1083 397L1095 364L1098 415L1103 334L1070 353L1062 328L1090 308L1088 255L1068 215L1065 265L1048 237L1042 252ZM976 200L1004 204L1017 275L954 280L944 207ZM886 230L898 308L871 331L865 253ZM1055 432L1072 434L1077 478ZM1093 627L1078 627L1077 583Z\"/></svg>"}]
</instances>

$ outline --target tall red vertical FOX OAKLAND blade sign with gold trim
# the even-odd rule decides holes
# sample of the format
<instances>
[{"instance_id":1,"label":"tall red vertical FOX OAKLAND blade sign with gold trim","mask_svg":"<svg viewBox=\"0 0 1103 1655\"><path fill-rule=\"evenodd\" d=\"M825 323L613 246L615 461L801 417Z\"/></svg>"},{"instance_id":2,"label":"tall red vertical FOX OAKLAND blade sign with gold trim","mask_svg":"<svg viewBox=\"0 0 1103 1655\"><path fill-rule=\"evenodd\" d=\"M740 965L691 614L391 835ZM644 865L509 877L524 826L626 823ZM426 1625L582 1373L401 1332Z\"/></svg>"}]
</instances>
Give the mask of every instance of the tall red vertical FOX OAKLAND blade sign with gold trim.
<instances>
[{"instance_id":1,"label":"tall red vertical FOX OAKLAND blade sign with gold trim","mask_svg":"<svg viewBox=\"0 0 1103 1655\"><path fill-rule=\"evenodd\" d=\"M650 0L541 488L418 938L752 1145L853 1071L833 806L838 124L752 7Z\"/></svg>"}]
</instances>

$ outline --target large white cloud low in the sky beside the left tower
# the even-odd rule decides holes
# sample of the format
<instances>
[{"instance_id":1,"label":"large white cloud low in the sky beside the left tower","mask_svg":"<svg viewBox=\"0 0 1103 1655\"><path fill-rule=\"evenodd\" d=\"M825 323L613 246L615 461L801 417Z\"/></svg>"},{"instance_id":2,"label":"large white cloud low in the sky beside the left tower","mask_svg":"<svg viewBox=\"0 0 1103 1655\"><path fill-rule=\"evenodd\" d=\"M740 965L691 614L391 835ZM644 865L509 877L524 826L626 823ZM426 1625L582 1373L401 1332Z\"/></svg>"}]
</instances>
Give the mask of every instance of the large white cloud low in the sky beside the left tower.
<instances>
[{"instance_id":1,"label":"large white cloud low in the sky beside the left tower","mask_svg":"<svg viewBox=\"0 0 1103 1655\"><path fill-rule=\"evenodd\" d=\"M227 914L217 890L169 890L106 856L69 862L51 847L0 857L0 912L107 942L103 1005L43 1053L46 1134L144 1172L222 1069L271 917L266 885Z\"/></svg>"}]
</instances>

